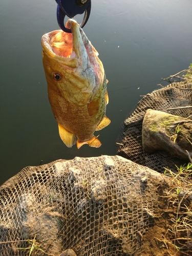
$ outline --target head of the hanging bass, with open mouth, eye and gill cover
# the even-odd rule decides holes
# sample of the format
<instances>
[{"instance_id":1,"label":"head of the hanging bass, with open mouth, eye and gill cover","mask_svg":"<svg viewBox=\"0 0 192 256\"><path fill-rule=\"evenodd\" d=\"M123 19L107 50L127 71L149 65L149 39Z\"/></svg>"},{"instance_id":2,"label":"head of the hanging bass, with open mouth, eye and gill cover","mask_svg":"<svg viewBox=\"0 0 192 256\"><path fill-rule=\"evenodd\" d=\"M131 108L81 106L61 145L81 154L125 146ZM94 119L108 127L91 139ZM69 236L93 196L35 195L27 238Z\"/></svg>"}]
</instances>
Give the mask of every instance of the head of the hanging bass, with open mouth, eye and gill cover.
<instances>
[{"instance_id":1,"label":"head of the hanging bass, with open mouth, eye and gill cover","mask_svg":"<svg viewBox=\"0 0 192 256\"><path fill-rule=\"evenodd\" d=\"M102 87L103 65L77 22L69 19L66 27L72 33L55 30L41 38L48 94L53 90L69 102L88 104Z\"/></svg>"}]
</instances>

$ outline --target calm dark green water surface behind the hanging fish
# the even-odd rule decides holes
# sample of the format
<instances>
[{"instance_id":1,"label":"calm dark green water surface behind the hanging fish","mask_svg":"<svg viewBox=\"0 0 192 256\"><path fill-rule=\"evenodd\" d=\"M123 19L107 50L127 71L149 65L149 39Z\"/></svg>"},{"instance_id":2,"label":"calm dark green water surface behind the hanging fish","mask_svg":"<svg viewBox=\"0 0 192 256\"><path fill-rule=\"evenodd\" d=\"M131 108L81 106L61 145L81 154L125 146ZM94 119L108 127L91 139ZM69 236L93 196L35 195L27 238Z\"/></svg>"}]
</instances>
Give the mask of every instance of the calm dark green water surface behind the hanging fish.
<instances>
[{"instance_id":1,"label":"calm dark green water surface behind the hanging fish","mask_svg":"<svg viewBox=\"0 0 192 256\"><path fill-rule=\"evenodd\" d=\"M41 36L59 29L54 0L0 3L0 184L27 165L75 156L115 155L122 121L137 102L192 62L191 0L92 0L84 32L99 52L109 80L100 148L67 148L48 102ZM78 17L80 21L81 17ZM153 82L150 82L153 81ZM121 88L125 88L122 89Z\"/></svg>"}]
</instances>

